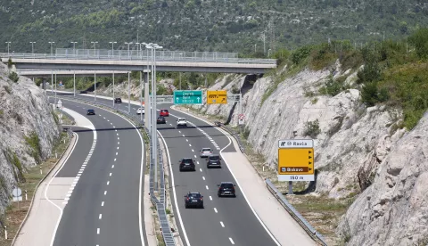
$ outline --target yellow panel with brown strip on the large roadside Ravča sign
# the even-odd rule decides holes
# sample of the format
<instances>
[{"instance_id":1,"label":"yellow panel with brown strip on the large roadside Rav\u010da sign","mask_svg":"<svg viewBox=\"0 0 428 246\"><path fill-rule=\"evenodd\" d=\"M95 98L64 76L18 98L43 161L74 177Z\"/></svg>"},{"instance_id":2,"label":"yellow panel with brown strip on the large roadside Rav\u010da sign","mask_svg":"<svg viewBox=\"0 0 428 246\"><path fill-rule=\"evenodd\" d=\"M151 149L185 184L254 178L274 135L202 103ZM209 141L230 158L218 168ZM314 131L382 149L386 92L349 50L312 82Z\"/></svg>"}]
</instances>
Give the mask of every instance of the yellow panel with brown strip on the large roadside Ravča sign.
<instances>
[{"instance_id":1,"label":"yellow panel with brown strip on the large roadside Rav\u010da sign","mask_svg":"<svg viewBox=\"0 0 428 246\"><path fill-rule=\"evenodd\" d=\"M278 149L278 175L313 175L314 148Z\"/></svg>"}]
</instances>

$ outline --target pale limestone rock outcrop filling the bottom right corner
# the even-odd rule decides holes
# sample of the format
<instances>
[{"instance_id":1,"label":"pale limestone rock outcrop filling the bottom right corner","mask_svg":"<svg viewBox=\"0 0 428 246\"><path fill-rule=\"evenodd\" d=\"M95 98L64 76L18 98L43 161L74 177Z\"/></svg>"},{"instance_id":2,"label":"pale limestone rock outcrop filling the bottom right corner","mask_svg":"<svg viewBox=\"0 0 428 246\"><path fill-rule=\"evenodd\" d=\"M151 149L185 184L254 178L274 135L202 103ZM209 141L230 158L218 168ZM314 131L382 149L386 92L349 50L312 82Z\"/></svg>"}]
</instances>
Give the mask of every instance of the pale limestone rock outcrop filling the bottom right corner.
<instances>
[{"instance_id":1,"label":"pale limestone rock outcrop filling the bottom right corner","mask_svg":"<svg viewBox=\"0 0 428 246\"><path fill-rule=\"evenodd\" d=\"M350 206L338 232L349 245L428 243L428 116L391 144L374 184Z\"/></svg>"}]
</instances>

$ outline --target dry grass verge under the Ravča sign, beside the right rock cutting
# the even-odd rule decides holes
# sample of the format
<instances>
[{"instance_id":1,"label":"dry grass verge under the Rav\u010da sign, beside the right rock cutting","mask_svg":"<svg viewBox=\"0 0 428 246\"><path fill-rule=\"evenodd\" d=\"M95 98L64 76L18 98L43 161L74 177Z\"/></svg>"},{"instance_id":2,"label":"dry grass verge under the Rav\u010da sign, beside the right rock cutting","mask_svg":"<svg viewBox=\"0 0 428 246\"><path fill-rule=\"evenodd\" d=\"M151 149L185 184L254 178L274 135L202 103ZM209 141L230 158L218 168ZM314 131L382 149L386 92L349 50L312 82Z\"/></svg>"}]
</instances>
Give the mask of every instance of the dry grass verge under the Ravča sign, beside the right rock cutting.
<instances>
[{"instance_id":1,"label":"dry grass verge under the Rav\u010da sign, beside the right rock cutting","mask_svg":"<svg viewBox=\"0 0 428 246\"><path fill-rule=\"evenodd\" d=\"M185 110L186 107L176 107L178 110ZM194 115L209 121L216 120L217 117L204 115L195 109L190 109ZM240 135L241 141L245 147L245 155L251 162L251 165L257 170L259 176L263 179L269 178L276 188L283 194L288 192L287 182L278 182L276 169L268 168L265 157L254 152L251 143L248 143L243 137L243 130L238 127L232 127ZM294 182L292 190L294 193L304 191L308 187L308 182ZM326 194L305 194L305 195L287 195L287 200L292 203L295 209L305 217L310 225L323 234L328 245L344 245L344 240L335 234L335 229L339 224L340 218L349 208L354 197L343 200L335 200L327 197Z\"/></svg>"}]
</instances>

